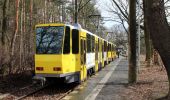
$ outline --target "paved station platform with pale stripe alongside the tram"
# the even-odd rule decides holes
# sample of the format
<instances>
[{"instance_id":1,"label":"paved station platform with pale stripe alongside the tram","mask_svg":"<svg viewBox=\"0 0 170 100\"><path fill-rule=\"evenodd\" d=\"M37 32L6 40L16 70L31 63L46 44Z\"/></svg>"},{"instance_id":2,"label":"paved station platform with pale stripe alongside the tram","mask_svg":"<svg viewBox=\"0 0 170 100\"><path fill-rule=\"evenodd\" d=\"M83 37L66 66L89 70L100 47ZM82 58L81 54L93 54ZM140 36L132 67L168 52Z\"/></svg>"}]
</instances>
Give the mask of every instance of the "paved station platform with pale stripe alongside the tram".
<instances>
[{"instance_id":1,"label":"paved station platform with pale stripe alongside the tram","mask_svg":"<svg viewBox=\"0 0 170 100\"><path fill-rule=\"evenodd\" d=\"M124 100L121 92L128 83L128 61L117 58L88 78L63 100Z\"/></svg>"}]
</instances>

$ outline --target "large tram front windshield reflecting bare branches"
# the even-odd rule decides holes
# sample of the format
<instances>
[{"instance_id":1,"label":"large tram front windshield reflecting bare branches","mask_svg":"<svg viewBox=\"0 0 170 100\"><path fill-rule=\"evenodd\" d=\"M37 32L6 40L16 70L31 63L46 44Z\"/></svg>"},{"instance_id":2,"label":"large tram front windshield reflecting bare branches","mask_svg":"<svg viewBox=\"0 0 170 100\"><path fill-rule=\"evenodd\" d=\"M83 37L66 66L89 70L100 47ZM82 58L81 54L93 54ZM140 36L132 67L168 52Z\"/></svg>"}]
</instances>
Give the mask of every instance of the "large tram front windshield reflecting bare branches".
<instances>
[{"instance_id":1,"label":"large tram front windshield reflecting bare branches","mask_svg":"<svg viewBox=\"0 0 170 100\"><path fill-rule=\"evenodd\" d=\"M61 54L63 35L63 26L37 27L36 54Z\"/></svg>"}]
</instances>

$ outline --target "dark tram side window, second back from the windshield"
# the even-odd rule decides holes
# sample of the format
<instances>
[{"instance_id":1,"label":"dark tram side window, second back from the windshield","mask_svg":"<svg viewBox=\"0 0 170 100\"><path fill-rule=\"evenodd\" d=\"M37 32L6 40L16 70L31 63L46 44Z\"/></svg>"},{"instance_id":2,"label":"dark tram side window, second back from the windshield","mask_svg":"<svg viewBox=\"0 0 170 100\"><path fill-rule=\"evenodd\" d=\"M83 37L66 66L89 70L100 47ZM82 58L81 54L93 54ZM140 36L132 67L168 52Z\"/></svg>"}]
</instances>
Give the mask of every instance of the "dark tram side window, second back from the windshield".
<instances>
[{"instance_id":1,"label":"dark tram side window, second back from the windshield","mask_svg":"<svg viewBox=\"0 0 170 100\"><path fill-rule=\"evenodd\" d=\"M79 53L79 31L76 29L72 30L72 53Z\"/></svg>"}]
</instances>

